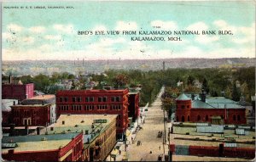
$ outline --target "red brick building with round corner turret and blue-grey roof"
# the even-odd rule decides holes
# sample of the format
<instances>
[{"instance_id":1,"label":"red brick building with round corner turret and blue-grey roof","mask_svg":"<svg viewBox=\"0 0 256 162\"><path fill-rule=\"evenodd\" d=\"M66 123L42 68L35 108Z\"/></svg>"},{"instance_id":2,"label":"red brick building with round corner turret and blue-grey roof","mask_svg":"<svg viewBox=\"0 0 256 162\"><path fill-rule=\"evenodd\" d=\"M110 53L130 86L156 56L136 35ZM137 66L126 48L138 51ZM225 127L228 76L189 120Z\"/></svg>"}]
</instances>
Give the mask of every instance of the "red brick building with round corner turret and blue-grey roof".
<instances>
[{"instance_id":1,"label":"red brick building with round corner turret and blue-grey roof","mask_svg":"<svg viewBox=\"0 0 256 162\"><path fill-rule=\"evenodd\" d=\"M193 97L194 98L194 97ZM182 93L176 98L176 120L182 122L213 122L219 119L224 124L246 124L246 109L227 98L192 100Z\"/></svg>"}]
</instances>

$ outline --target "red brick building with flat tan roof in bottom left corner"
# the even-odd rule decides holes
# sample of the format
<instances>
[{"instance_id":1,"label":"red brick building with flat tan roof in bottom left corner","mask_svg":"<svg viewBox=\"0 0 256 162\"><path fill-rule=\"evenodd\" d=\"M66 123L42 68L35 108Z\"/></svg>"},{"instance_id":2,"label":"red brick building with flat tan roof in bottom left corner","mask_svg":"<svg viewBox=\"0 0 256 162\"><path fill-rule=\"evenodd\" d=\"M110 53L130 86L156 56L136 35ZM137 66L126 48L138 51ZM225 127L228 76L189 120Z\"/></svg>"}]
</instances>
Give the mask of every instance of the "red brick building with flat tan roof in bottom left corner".
<instances>
[{"instance_id":1,"label":"red brick building with flat tan roof in bottom left corner","mask_svg":"<svg viewBox=\"0 0 256 162\"><path fill-rule=\"evenodd\" d=\"M83 134L3 137L2 158L15 161L81 161Z\"/></svg>"}]
</instances>

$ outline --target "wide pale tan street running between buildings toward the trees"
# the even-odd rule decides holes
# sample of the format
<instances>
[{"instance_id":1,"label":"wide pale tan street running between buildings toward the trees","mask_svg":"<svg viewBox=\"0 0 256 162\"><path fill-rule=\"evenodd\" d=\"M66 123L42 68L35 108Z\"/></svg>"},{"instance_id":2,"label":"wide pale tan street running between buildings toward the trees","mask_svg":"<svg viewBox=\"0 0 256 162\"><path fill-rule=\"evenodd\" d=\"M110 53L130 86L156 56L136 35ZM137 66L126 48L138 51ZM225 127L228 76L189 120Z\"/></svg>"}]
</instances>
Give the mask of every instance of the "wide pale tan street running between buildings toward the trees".
<instances>
[{"instance_id":1,"label":"wide pale tan street running between buildings toward the trees","mask_svg":"<svg viewBox=\"0 0 256 162\"><path fill-rule=\"evenodd\" d=\"M160 99L163 92L164 87L148 108L143 130L138 131L135 141L127 148L129 161L156 161L158 156L164 153L163 137L157 137L159 131L162 131L164 135L164 114ZM137 146L137 141L141 141L142 145ZM167 146L165 152L168 153Z\"/></svg>"}]
</instances>

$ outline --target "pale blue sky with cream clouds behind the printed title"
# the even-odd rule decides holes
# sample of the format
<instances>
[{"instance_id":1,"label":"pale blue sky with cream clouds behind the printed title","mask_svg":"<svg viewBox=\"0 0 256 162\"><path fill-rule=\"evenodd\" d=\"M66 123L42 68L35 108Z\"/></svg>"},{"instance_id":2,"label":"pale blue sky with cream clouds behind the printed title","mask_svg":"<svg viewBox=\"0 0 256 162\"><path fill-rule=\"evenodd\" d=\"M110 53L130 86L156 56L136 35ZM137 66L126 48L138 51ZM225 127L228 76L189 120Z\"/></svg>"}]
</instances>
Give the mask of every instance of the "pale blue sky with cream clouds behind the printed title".
<instances>
[{"instance_id":1,"label":"pale blue sky with cream clouds behind the printed title","mask_svg":"<svg viewBox=\"0 0 256 162\"><path fill-rule=\"evenodd\" d=\"M14 6L19 8L4 8ZM3 60L255 57L253 2L3 3L2 12ZM131 36L77 34L156 31L153 25L160 25L160 31L227 30L233 35L181 36L181 42L133 42Z\"/></svg>"}]
</instances>

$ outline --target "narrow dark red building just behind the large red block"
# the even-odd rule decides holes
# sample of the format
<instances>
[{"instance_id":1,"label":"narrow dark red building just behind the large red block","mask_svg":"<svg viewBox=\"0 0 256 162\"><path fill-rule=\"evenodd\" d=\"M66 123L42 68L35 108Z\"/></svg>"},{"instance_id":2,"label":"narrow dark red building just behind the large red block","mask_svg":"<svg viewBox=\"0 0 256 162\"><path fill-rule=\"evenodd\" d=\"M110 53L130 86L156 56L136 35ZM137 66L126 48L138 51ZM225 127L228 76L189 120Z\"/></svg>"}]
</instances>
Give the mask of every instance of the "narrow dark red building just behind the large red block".
<instances>
[{"instance_id":1,"label":"narrow dark red building just behind the large red block","mask_svg":"<svg viewBox=\"0 0 256 162\"><path fill-rule=\"evenodd\" d=\"M128 116L135 121L140 115L139 92L129 92L128 103Z\"/></svg>"}]
</instances>

